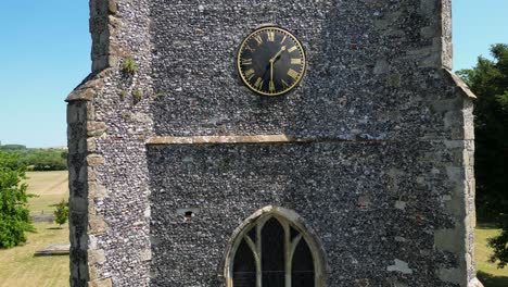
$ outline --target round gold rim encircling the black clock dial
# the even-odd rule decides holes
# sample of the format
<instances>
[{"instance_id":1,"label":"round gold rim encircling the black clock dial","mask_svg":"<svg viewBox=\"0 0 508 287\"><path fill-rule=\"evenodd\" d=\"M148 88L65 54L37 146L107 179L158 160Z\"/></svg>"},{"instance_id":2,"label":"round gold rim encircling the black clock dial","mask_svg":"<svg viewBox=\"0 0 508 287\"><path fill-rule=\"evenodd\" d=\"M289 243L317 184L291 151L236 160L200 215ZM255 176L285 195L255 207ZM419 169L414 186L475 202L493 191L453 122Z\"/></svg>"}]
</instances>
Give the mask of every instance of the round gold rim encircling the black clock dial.
<instances>
[{"instance_id":1,"label":"round gold rim encircling the black clock dial","mask_svg":"<svg viewBox=\"0 0 508 287\"><path fill-rule=\"evenodd\" d=\"M275 92L275 93L269 93L269 92L263 92L263 91L259 91L257 89L255 89L254 87L252 87L252 85L249 83L249 80L245 78L245 76L243 75L242 73L242 67L241 67L241 52L243 51L243 47L245 47L245 43L251 40L251 38L254 36L254 35L257 35L264 30L279 30L281 32L282 34L285 34L288 35L295 43L296 43L296 47L297 49L300 49L300 51L302 52L302 73L299 74L299 78L294 80L294 83L287 89L280 91L280 92ZM304 46L302 45L302 42L291 33L289 32L288 29L285 28L281 28L279 26L272 26L272 25L267 25L267 26L262 26L259 28L256 28L254 29L251 34L249 34L249 36L245 37L245 39L243 39L242 43L240 45L238 51L237 51L237 72L238 74L240 75L240 78L242 79L243 84L252 91L254 91L255 93L257 95L262 95L262 96L267 96L267 97L276 97L276 96L282 96L282 95L285 95L290 91L292 91L294 88L296 88L303 80L306 72L307 72L307 55L305 53L305 49L304 49Z\"/></svg>"}]
</instances>

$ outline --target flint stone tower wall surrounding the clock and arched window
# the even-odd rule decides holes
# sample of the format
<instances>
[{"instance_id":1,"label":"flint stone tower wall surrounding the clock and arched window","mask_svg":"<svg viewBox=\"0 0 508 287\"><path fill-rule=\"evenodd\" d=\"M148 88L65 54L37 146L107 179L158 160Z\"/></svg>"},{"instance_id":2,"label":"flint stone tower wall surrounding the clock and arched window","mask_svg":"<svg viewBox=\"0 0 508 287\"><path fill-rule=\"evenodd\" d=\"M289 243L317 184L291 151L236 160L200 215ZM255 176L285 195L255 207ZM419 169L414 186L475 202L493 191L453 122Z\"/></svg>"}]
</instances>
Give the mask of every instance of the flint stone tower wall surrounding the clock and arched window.
<instances>
[{"instance_id":1,"label":"flint stone tower wall surrounding the clock and arched window","mask_svg":"<svg viewBox=\"0 0 508 287\"><path fill-rule=\"evenodd\" d=\"M266 23L309 59L283 97L234 70ZM327 286L481 286L450 23L449 0L90 0L92 73L67 98L71 285L225 286L233 230L280 205L321 241Z\"/></svg>"}]
</instances>

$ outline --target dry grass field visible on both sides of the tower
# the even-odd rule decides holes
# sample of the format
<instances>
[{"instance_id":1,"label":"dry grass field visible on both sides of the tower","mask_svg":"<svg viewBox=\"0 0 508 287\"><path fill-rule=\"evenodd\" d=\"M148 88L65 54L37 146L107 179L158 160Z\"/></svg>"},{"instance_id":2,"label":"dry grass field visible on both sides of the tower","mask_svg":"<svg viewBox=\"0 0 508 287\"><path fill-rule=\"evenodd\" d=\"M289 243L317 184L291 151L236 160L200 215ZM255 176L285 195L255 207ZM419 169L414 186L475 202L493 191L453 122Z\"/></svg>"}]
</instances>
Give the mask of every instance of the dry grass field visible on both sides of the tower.
<instances>
[{"instance_id":1,"label":"dry grass field visible on both sides of the tower","mask_svg":"<svg viewBox=\"0 0 508 287\"><path fill-rule=\"evenodd\" d=\"M31 214L48 214L54 204L68 198L67 172L27 173L28 191L38 195L29 200ZM55 223L36 223L37 233L28 234L28 241L21 247L0 250L0 287L68 286L68 257L34 257L36 250L50 244L68 242L68 227L56 228ZM485 287L507 287L508 267L498 270L488 262L491 253L486 240L499 233L492 226L477 228L478 277Z\"/></svg>"}]
</instances>

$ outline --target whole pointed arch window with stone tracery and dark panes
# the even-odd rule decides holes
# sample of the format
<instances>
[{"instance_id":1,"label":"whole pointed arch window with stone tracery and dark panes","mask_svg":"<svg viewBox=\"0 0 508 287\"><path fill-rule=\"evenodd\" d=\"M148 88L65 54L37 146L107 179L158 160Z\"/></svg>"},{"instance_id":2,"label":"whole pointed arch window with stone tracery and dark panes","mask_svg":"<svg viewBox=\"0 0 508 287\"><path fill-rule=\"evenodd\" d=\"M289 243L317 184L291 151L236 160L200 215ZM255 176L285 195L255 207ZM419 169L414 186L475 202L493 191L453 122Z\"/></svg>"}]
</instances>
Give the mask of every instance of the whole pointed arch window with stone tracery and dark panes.
<instances>
[{"instance_id":1,"label":"whole pointed arch window with stone tracery and dark panes","mask_svg":"<svg viewBox=\"0 0 508 287\"><path fill-rule=\"evenodd\" d=\"M293 211L264 208L237 228L226 255L227 287L323 287L325 255Z\"/></svg>"}]
</instances>

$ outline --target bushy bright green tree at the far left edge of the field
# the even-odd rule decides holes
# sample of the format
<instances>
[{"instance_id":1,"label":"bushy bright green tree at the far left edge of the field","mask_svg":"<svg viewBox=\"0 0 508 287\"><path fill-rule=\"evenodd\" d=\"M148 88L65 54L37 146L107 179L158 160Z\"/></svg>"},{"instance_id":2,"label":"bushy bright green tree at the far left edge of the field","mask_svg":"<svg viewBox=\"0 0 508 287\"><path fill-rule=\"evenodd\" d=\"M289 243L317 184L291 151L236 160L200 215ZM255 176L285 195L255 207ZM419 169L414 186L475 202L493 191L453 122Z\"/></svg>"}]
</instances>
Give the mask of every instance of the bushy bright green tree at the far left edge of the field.
<instances>
[{"instance_id":1,"label":"bushy bright green tree at the far left edge of the field","mask_svg":"<svg viewBox=\"0 0 508 287\"><path fill-rule=\"evenodd\" d=\"M16 153L0 151L0 248L26 241L26 232L35 232L27 209L27 185L22 184L25 169Z\"/></svg>"}]
</instances>

